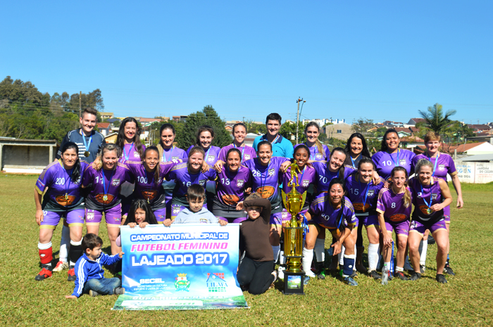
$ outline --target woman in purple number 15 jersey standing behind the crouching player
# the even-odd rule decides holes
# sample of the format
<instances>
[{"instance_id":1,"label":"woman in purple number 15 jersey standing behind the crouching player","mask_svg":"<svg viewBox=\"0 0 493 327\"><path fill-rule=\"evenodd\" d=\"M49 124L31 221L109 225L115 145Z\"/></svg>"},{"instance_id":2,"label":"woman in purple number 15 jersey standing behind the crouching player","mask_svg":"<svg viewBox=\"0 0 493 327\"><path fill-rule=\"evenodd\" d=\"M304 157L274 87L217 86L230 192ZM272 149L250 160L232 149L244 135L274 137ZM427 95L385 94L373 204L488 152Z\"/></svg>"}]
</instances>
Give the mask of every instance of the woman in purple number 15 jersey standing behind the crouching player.
<instances>
[{"instance_id":1,"label":"woman in purple number 15 jersey standing behind the crouching player","mask_svg":"<svg viewBox=\"0 0 493 327\"><path fill-rule=\"evenodd\" d=\"M351 232L351 236L356 239L356 270L366 273L363 266L363 225L368 236L368 274L375 279L379 279L377 274L378 247L380 239L380 226L378 225L377 198L378 193L383 187L383 181L373 183L372 177L375 171L375 164L370 158L363 158L358 161L358 172L346 179L348 197L353 203L354 212L358 224ZM344 251L342 251L344 253ZM340 262L339 262L340 264Z\"/></svg>"}]
</instances>

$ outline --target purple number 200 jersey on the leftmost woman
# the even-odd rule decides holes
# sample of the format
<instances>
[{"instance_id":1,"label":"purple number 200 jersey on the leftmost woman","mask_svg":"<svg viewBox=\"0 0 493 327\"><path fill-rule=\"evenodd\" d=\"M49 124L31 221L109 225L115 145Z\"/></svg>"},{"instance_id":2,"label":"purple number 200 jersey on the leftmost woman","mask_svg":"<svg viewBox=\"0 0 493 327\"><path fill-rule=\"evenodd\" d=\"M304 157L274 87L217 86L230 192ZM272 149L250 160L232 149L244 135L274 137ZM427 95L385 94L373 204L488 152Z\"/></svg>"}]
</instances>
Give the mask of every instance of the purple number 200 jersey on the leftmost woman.
<instances>
[{"instance_id":1,"label":"purple number 200 jersey on the leftmost woman","mask_svg":"<svg viewBox=\"0 0 493 327\"><path fill-rule=\"evenodd\" d=\"M36 181L36 190L39 194L48 191L43 198L42 208L46 211L61 212L65 210L83 209L84 198L80 195L82 172L89 164L80 160L80 177L73 181L70 177L73 169L63 168L61 159L51 162Z\"/></svg>"}]
</instances>

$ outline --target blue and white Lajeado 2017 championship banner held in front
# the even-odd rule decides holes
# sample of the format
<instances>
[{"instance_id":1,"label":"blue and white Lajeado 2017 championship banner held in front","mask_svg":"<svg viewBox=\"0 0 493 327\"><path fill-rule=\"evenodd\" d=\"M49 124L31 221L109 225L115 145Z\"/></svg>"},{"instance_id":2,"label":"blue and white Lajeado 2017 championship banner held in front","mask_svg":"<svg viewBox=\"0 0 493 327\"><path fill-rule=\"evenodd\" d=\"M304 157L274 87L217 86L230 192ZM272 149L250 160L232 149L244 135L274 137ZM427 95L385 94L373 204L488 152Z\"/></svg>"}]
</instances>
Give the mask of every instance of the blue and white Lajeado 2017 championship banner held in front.
<instances>
[{"instance_id":1,"label":"blue and white Lajeado 2017 championship banner held in front","mask_svg":"<svg viewBox=\"0 0 493 327\"><path fill-rule=\"evenodd\" d=\"M237 284L239 224L120 227L122 287L113 309L248 307Z\"/></svg>"}]
</instances>

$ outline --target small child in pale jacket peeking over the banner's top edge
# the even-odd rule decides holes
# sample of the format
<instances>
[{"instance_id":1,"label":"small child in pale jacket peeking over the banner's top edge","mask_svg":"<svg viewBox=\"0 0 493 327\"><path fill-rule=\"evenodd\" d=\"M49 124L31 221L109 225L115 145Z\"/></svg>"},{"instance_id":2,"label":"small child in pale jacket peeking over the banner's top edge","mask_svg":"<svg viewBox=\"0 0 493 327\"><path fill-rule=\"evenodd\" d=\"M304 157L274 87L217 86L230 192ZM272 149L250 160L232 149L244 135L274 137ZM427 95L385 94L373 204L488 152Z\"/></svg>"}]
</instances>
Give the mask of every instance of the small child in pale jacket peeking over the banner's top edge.
<instances>
[{"instance_id":1,"label":"small child in pale jacket peeking over the banner's top edge","mask_svg":"<svg viewBox=\"0 0 493 327\"><path fill-rule=\"evenodd\" d=\"M227 221L220 220L209 210L204 208L206 191L199 184L192 184L187 189L187 201L190 209L183 209L175 218L175 224L217 224L227 225ZM164 221L164 226L171 226L171 219Z\"/></svg>"}]
</instances>

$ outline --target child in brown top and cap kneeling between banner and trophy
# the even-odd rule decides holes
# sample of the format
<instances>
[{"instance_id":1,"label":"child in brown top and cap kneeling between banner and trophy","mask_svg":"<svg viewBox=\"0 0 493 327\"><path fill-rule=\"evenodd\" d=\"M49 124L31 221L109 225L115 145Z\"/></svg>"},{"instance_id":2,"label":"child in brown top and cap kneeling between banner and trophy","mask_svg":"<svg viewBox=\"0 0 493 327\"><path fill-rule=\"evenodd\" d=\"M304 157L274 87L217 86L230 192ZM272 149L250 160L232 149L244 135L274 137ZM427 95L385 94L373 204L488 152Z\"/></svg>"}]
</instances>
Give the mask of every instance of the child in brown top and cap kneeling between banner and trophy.
<instances>
[{"instance_id":1,"label":"child in brown top and cap kneeling between banner and trophy","mask_svg":"<svg viewBox=\"0 0 493 327\"><path fill-rule=\"evenodd\" d=\"M240 209L246 210L248 218L239 226L239 256L244 257L238 268L238 283L251 294L262 294L277 278L269 242L270 201L253 193Z\"/></svg>"}]
</instances>

